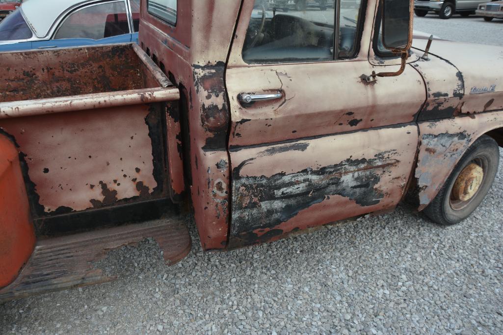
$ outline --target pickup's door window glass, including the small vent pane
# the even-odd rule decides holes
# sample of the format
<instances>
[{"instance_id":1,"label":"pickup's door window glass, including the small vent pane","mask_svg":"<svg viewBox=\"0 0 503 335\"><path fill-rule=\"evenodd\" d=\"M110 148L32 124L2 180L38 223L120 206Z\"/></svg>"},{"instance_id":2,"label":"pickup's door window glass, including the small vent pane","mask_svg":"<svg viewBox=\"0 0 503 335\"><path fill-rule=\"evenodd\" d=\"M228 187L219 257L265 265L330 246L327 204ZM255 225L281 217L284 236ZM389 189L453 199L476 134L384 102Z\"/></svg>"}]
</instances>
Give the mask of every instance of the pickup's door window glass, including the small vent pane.
<instances>
[{"instance_id":1,"label":"pickup's door window glass, including the small vent pane","mask_svg":"<svg viewBox=\"0 0 503 335\"><path fill-rule=\"evenodd\" d=\"M346 0L336 20L329 0L256 0L242 56L248 63L323 61L352 57L361 0ZM340 22L336 29L335 22ZM339 54L334 57L338 31Z\"/></svg>"}]
</instances>

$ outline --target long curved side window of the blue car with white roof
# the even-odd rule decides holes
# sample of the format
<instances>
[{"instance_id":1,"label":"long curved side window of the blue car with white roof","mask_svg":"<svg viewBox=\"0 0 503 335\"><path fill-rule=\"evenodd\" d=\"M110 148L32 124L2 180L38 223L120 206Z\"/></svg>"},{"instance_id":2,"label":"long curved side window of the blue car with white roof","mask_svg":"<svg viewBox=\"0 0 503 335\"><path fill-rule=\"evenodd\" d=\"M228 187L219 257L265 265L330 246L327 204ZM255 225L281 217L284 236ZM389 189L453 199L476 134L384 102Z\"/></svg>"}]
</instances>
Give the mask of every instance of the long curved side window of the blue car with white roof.
<instances>
[{"instance_id":1,"label":"long curved side window of the blue car with white roof","mask_svg":"<svg viewBox=\"0 0 503 335\"><path fill-rule=\"evenodd\" d=\"M122 34L129 34L129 24L126 5L119 1L77 10L61 24L54 38L99 40Z\"/></svg>"}]
</instances>

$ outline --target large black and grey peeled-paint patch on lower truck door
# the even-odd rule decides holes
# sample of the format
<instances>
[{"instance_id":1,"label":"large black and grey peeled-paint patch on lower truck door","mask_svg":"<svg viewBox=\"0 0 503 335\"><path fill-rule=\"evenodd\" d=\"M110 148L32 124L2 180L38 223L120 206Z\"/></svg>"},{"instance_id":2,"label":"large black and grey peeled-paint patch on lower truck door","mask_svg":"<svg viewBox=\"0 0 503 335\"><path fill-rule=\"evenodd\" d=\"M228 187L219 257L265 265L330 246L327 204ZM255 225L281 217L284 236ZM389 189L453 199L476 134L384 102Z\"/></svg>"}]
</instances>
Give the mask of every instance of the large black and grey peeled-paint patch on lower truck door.
<instances>
[{"instance_id":1,"label":"large black and grey peeled-paint patch on lower truck door","mask_svg":"<svg viewBox=\"0 0 503 335\"><path fill-rule=\"evenodd\" d=\"M381 173L398 163L398 160L390 162L388 153L382 152L370 159L348 158L319 169L271 177L241 176L240 170L255 158L243 161L232 172L236 201L232 204L231 236L243 240L257 229L269 229L263 238L282 234L281 229L274 228L332 196L348 198L363 207L378 204L384 197L376 188ZM248 240L248 244L255 242Z\"/></svg>"}]
</instances>

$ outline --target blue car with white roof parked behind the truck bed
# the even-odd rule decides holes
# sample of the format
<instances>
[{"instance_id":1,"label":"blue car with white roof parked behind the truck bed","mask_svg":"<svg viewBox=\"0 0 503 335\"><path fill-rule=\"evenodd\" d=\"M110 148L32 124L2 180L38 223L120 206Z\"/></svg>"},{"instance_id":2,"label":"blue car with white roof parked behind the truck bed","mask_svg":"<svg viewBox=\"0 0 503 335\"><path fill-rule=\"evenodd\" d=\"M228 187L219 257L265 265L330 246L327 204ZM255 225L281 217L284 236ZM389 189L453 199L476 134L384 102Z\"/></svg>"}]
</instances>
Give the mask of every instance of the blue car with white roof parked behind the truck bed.
<instances>
[{"instance_id":1,"label":"blue car with white roof parked behind the truck bed","mask_svg":"<svg viewBox=\"0 0 503 335\"><path fill-rule=\"evenodd\" d=\"M0 23L0 51L136 42L140 0L30 0Z\"/></svg>"}]
</instances>

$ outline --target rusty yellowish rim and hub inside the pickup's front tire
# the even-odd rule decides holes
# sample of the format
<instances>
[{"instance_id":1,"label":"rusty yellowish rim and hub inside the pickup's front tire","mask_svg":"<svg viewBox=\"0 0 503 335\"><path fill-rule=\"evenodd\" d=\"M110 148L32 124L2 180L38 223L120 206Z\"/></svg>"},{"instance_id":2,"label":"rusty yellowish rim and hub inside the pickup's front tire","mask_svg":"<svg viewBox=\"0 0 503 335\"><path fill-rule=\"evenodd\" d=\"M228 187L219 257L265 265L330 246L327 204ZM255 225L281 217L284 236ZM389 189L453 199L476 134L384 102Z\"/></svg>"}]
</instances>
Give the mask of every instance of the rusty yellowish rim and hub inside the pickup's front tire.
<instances>
[{"instance_id":1,"label":"rusty yellowish rim and hub inside the pickup's front tire","mask_svg":"<svg viewBox=\"0 0 503 335\"><path fill-rule=\"evenodd\" d=\"M449 204L453 210L465 208L476 198L485 182L487 163L482 158L474 158L456 177L451 189Z\"/></svg>"}]
</instances>

